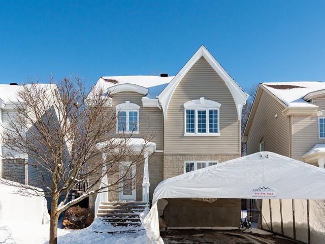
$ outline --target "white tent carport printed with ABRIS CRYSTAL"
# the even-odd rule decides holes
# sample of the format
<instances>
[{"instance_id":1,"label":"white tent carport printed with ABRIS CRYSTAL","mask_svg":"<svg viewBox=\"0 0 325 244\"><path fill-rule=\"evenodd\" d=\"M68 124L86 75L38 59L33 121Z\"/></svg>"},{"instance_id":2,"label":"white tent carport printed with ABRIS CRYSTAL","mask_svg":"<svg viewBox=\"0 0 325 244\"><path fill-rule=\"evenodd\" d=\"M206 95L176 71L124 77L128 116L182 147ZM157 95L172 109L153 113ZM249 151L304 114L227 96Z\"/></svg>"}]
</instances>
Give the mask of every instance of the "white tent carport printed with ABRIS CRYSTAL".
<instances>
[{"instance_id":1,"label":"white tent carport printed with ABRIS CRYSTAL","mask_svg":"<svg viewBox=\"0 0 325 244\"><path fill-rule=\"evenodd\" d=\"M154 191L152 207L141 221L151 243L163 244L159 199L325 199L324 189L325 170L264 151L161 181Z\"/></svg>"}]
</instances>

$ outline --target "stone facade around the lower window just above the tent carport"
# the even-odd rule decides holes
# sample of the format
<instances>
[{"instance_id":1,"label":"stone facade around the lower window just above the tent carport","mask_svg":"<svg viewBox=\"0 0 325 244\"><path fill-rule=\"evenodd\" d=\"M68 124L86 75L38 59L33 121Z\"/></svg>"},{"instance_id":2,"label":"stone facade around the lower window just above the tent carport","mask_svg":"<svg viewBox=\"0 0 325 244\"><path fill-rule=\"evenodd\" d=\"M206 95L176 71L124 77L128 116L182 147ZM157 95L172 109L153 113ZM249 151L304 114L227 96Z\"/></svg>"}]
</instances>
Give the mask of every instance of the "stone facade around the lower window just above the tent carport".
<instances>
[{"instance_id":1,"label":"stone facade around the lower window just above the tent carport","mask_svg":"<svg viewBox=\"0 0 325 244\"><path fill-rule=\"evenodd\" d=\"M164 155L164 179L168 179L183 174L185 161L218 160L219 163L222 163L239 157L241 157L241 155L239 154L238 155Z\"/></svg>"}]
</instances>

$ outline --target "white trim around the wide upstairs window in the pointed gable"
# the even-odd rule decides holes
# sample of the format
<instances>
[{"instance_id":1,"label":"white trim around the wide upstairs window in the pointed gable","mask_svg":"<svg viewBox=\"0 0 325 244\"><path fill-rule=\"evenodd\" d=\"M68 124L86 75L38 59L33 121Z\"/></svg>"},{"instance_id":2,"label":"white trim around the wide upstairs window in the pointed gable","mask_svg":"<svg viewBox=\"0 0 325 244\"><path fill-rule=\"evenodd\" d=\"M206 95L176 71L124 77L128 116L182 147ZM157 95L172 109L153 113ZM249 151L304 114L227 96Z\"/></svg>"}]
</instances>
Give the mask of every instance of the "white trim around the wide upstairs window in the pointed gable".
<instances>
[{"instance_id":1,"label":"white trim around the wide upstairs window in the pointed gable","mask_svg":"<svg viewBox=\"0 0 325 244\"><path fill-rule=\"evenodd\" d=\"M220 106L221 104L201 97L184 103L184 136L220 136ZM186 110L194 110L194 133L186 132ZM198 110L206 110L206 133L198 132ZM210 133L209 110L218 111L218 132Z\"/></svg>"}]
</instances>

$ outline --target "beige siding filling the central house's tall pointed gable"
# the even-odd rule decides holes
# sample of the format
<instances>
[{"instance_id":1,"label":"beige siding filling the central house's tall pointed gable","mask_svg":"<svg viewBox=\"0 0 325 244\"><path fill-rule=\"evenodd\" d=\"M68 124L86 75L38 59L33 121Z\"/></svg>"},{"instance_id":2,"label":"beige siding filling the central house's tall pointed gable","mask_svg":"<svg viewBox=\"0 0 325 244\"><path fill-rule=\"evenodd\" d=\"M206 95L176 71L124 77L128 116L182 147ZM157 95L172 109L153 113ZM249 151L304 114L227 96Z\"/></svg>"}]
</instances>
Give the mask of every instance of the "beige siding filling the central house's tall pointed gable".
<instances>
[{"instance_id":1,"label":"beige siding filling the central house's tall pointed gable","mask_svg":"<svg viewBox=\"0 0 325 244\"><path fill-rule=\"evenodd\" d=\"M183 104L200 97L221 104L220 136L184 136ZM193 65L175 88L164 130L165 155L240 154L240 121L234 99L204 57Z\"/></svg>"}]
</instances>

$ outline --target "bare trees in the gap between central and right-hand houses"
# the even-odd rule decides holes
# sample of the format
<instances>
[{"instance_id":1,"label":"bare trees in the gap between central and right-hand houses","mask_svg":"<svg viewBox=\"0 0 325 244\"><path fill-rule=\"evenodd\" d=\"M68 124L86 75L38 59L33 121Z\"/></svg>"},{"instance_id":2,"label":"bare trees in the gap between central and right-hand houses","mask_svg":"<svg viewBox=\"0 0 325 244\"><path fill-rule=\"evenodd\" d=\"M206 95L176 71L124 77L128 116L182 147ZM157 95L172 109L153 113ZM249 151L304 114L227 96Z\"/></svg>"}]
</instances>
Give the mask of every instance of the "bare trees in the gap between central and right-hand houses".
<instances>
[{"instance_id":1,"label":"bare trees in the gap between central and right-hand houses","mask_svg":"<svg viewBox=\"0 0 325 244\"><path fill-rule=\"evenodd\" d=\"M246 124L248 122L249 114L253 106L253 102L255 99L255 95L257 92L258 84L252 84L248 88L246 88L246 93L249 95L249 98L246 101L246 104L243 107L242 111L242 133L244 133ZM245 156L246 153L246 144L242 143L242 156Z\"/></svg>"}]
</instances>

